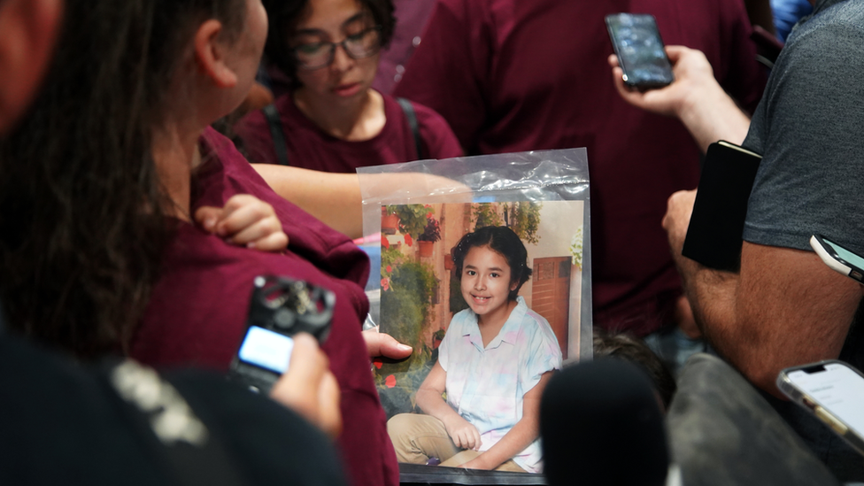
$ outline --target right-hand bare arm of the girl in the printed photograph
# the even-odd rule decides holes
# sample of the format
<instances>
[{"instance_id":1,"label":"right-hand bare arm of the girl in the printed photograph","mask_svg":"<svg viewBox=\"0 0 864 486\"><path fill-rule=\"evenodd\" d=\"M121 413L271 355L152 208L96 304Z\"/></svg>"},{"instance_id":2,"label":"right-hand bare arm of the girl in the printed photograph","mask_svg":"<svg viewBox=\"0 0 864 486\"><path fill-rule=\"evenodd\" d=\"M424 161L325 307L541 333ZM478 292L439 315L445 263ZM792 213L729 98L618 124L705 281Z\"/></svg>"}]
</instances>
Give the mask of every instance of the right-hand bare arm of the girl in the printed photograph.
<instances>
[{"instance_id":1,"label":"right-hand bare arm of the girl in the printed photograph","mask_svg":"<svg viewBox=\"0 0 864 486\"><path fill-rule=\"evenodd\" d=\"M506 460L524 451L528 445L540 436L540 397L546 388L546 383L552 378L552 372L546 372L540 377L540 382L528 390L522 397L522 418L510 429L489 451L483 452L476 459L463 464L469 469L494 469Z\"/></svg>"}]
</instances>

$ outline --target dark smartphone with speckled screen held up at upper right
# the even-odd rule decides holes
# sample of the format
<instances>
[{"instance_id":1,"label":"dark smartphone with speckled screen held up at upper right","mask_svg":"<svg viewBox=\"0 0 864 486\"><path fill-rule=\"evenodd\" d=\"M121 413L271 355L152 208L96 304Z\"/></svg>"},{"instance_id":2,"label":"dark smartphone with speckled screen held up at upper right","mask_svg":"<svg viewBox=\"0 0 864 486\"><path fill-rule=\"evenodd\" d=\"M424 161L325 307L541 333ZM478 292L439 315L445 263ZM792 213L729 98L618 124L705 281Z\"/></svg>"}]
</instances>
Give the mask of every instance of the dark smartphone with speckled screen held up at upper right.
<instances>
[{"instance_id":1,"label":"dark smartphone with speckled screen held up at upper right","mask_svg":"<svg viewBox=\"0 0 864 486\"><path fill-rule=\"evenodd\" d=\"M653 15L614 13L606 16L606 28L630 88L661 88L675 81Z\"/></svg>"}]
</instances>

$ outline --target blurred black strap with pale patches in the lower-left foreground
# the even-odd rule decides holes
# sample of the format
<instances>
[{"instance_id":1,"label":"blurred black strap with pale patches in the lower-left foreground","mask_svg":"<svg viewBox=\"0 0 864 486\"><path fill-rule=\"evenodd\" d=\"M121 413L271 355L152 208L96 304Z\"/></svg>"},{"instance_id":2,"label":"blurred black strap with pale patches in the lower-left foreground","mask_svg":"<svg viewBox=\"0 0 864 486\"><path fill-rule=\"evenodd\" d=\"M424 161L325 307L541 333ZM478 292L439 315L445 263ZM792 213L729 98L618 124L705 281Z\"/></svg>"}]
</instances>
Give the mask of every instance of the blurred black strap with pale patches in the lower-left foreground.
<instances>
[{"instance_id":1,"label":"blurred black strap with pale patches in the lower-left foreground","mask_svg":"<svg viewBox=\"0 0 864 486\"><path fill-rule=\"evenodd\" d=\"M246 484L218 432L198 419L171 383L131 359L109 359L102 369L131 430L148 444L174 484Z\"/></svg>"}]
</instances>

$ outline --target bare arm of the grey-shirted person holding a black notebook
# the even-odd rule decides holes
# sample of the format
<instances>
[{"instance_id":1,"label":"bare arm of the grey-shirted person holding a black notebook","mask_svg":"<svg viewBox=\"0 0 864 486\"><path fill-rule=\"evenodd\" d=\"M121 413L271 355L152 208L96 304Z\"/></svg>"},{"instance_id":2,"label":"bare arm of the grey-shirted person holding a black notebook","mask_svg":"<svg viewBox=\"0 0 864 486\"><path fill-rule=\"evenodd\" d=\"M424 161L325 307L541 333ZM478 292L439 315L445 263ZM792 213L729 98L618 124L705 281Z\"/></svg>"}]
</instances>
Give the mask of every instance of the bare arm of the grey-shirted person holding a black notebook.
<instances>
[{"instance_id":1,"label":"bare arm of the grey-shirted person holding a black notebook","mask_svg":"<svg viewBox=\"0 0 864 486\"><path fill-rule=\"evenodd\" d=\"M695 192L669 198L663 228L698 325L751 382L783 397L781 369L840 354L860 288L809 251L744 242L738 274L683 257Z\"/></svg>"}]
</instances>

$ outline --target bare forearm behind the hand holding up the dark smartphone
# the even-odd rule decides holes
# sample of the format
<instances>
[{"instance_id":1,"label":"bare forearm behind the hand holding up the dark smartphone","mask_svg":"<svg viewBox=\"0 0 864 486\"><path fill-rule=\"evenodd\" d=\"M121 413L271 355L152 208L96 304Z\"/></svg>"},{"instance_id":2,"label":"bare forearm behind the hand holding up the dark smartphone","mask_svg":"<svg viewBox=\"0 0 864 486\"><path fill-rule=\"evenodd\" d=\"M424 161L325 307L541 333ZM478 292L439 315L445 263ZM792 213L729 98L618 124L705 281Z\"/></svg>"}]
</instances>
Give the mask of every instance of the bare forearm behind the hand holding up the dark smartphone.
<instances>
[{"instance_id":1,"label":"bare forearm behind the hand holding up the dark smartphone","mask_svg":"<svg viewBox=\"0 0 864 486\"><path fill-rule=\"evenodd\" d=\"M717 83L691 93L682 104L678 118L703 153L718 140L741 144L750 129L750 117Z\"/></svg>"}]
</instances>

